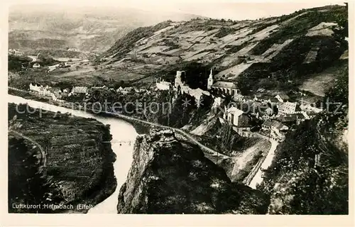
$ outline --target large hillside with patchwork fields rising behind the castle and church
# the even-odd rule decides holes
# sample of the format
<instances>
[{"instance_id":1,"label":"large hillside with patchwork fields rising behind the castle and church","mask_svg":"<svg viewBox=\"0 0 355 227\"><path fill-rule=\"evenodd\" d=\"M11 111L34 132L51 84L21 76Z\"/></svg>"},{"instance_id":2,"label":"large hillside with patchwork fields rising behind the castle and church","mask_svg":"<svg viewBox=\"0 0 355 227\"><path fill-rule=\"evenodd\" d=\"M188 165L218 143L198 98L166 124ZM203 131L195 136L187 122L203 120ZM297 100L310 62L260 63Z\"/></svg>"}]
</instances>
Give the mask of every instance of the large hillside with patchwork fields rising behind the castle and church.
<instances>
[{"instance_id":1,"label":"large hillside with patchwork fields rising behind the castle and church","mask_svg":"<svg viewBox=\"0 0 355 227\"><path fill-rule=\"evenodd\" d=\"M215 80L239 82L244 93L260 87L296 88L307 75L334 65L348 49L344 34L339 38L343 18L345 6L324 6L257 21L168 21L131 31L99 63L167 78L190 64L207 78L204 67L214 67Z\"/></svg>"}]
</instances>

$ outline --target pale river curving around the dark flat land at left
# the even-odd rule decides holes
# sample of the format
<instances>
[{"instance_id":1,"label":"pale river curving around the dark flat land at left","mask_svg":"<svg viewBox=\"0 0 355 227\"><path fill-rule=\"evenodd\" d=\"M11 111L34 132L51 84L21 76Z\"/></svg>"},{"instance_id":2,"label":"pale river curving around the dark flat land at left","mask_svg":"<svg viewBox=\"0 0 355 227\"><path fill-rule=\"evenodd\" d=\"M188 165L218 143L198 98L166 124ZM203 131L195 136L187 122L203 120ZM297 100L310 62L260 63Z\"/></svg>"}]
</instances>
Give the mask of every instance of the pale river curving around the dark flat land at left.
<instances>
[{"instance_id":1,"label":"pale river curving around the dark flat land at left","mask_svg":"<svg viewBox=\"0 0 355 227\"><path fill-rule=\"evenodd\" d=\"M40 101L34 101L30 99L23 99L19 96L13 96L8 94L8 101L9 103L14 104L28 104L35 109L43 109L46 111L53 111L57 112L60 111L61 113L69 113L73 116L81 116L84 118L95 118L97 121L100 121L104 124L110 125L110 133L112 135L112 140L119 140L119 141L134 141L136 140L136 130L133 128L131 123L123 121L119 118L109 118L109 117L102 117L97 116L94 114L89 114L84 111L78 111L73 109L67 109L62 106L55 106L51 104L46 104ZM121 185L124 184L126 181L127 174L131 167L132 163L132 155L133 155L133 143L131 145L129 143L111 143L111 148L116 154L116 162L114 162L114 175L117 179L117 187L114 194L111 194L109 198L102 201L100 204L97 204L92 209L89 210L88 213L97 213L97 214L117 214L117 201L119 198L119 189Z\"/></svg>"}]
</instances>

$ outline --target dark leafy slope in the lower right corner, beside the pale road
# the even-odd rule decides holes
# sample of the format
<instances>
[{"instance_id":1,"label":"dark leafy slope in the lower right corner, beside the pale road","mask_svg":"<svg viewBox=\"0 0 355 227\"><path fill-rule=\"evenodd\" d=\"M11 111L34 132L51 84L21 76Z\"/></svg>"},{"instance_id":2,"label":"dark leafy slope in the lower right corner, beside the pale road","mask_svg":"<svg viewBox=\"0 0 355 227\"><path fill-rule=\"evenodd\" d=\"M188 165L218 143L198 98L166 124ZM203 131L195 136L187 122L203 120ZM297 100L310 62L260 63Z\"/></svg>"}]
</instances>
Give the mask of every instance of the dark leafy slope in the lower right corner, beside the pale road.
<instances>
[{"instance_id":1,"label":"dark leafy slope in the lower right corner, beside the pale road","mask_svg":"<svg viewBox=\"0 0 355 227\"><path fill-rule=\"evenodd\" d=\"M348 145L343 138L349 122L348 73L344 69L327 92L325 100L333 103L329 109L288 134L275 151L259 187L271 194L270 214L348 213Z\"/></svg>"}]
</instances>

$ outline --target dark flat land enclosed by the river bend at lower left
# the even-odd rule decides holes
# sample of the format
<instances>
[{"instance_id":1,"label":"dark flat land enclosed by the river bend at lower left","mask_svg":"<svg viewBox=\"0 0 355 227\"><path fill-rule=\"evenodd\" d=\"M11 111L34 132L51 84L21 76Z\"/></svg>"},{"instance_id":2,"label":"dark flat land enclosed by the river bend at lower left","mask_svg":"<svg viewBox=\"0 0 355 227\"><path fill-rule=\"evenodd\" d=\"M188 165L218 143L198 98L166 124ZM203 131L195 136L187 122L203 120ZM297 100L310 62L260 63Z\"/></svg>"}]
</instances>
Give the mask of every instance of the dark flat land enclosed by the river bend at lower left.
<instances>
[{"instance_id":1,"label":"dark flat land enclosed by the river bend at lower left","mask_svg":"<svg viewBox=\"0 0 355 227\"><path fill-rule=\"evenodd\" d=\"M16 104L9 104L10 213L87 213L88 207L77 205L94 206L114 193L116 155L102 143L111 140L109 126Z\"/></svg>"}]
</instances>

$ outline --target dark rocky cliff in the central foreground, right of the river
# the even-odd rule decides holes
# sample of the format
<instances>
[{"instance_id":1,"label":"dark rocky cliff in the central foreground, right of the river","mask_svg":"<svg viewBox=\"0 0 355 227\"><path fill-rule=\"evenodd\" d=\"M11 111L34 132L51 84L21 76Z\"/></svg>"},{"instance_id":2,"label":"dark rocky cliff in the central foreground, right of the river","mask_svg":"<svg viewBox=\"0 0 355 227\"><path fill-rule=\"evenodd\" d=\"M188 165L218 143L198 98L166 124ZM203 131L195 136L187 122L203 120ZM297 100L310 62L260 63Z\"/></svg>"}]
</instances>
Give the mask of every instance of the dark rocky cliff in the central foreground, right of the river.
<instances>
[{"instance_id":1,"label":"dark rocky cliff in the central foreground, right of the river","mask_svg":"<svg viewBox=\"0 0 355 227\"><path fill-rule=\"evenodd\" d=\"M137 138L121 214L265 214L268 196L234 184L197 146L158 131Z\"/></svg>"}]
</instances>

